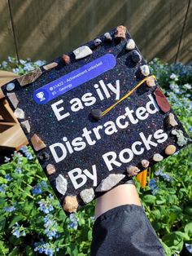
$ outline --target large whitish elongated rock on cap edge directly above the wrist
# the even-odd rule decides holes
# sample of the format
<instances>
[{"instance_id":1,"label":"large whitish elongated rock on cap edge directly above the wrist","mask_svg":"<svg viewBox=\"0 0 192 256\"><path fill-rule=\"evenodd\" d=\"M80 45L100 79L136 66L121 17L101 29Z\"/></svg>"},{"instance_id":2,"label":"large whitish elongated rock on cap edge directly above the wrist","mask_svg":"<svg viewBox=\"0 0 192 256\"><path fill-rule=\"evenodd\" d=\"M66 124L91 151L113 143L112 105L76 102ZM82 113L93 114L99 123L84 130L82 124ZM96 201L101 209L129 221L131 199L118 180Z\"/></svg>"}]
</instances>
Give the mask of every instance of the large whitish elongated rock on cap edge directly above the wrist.
<instances>
[{"instance_id":1,"label":"large whitish elongated rock on cap edge directly above the wrist","mask_svg":"<svg viewBox=\"0 0 192 256\"><path fill-rule=\"evenodd\" d=\"M124 179L124 174L109 174L106 179L103 179L101 183L98 185L98 188L95 189L96 192L108 191L117 183L120 182L121 179Z\"/></svg>"}]
</instances>

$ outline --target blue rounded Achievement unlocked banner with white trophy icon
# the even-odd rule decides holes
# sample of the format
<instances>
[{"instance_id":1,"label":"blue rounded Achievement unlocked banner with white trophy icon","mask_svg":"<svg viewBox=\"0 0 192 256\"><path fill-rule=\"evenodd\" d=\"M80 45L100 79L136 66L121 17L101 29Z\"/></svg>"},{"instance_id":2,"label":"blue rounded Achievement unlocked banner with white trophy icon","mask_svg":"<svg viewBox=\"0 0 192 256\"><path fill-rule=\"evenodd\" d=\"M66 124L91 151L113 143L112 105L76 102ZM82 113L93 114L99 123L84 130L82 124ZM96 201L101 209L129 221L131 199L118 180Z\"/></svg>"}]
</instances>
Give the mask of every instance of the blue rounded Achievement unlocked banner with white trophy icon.
<instances>
[{"instance_id":1,"label":"blue rounded Achievement unlocked banner with white trophy icon","mask_svg":"<svg viewBox=\"0 0 192 256\"><path fill-rule=\"evenodd\" d=\"M46 86L34 91L33 99L37 104L46 104L51 99L55 99L59 95L63 95L84 82L88 82L94 77L98 77L102 73L107 72L116 65L116 57L112 54L106 54L96 60L85 64L81 68L59 77Z\"/></svg>"}]
</instances>

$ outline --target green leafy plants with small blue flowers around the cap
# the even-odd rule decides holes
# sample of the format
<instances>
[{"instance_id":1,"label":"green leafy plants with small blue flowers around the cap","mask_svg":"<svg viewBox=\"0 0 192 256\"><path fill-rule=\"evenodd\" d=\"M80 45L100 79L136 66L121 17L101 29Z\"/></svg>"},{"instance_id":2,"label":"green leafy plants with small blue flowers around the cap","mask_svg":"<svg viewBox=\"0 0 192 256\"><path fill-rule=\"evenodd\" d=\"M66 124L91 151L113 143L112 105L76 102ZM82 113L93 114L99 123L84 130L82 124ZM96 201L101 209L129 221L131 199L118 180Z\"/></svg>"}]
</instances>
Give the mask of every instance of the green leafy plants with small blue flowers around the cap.
<instances>
[{"instance_id":1,"label":"green leafy plants with small blue flowers around the cap","mask_svg":"<svg viewBox=\"0 0 192 256\"><path fill-rule=\"evenodd\" d=\"M0 68L23 74L40 64L14 58ZM18 69L16 69L18 68ZM191 66L151 62L159 85L191 135ZM192 147L152 168L151 182L137 190L166 255L179 255L192 236ZM21 148L0 166L0 255L89 255L94 202L68 218L32 148Z\"/></svg>"}]
</instances>

